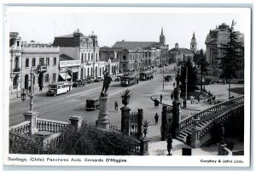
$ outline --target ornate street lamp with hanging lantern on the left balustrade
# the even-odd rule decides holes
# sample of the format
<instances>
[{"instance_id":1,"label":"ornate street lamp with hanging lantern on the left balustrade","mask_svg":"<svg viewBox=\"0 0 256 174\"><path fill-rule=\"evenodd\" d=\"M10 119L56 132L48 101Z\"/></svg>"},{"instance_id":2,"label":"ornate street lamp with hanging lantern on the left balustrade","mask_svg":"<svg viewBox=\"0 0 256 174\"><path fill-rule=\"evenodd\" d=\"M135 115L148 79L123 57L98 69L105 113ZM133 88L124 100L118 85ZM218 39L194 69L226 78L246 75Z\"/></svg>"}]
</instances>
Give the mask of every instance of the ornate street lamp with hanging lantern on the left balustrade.
<instances>
[{"instance_id":1,"label":"ornate street lamp with hanging lantern on the left balustrade","mask_svg":"<svg viewBox=\"0 0 256 174\"><path fill-rule=\"evenodd\" d=\"M22 93L20 93L20 98L24 102L26 100L26 95L30 98L30 103L29 103L29 110L33 110L33 98L34 98L34 83L33 83L33 76L34 76L35 70L30 70L30 81L31 81L31 86L29 92L23 88Z\"/></svg>"}]
</instances>

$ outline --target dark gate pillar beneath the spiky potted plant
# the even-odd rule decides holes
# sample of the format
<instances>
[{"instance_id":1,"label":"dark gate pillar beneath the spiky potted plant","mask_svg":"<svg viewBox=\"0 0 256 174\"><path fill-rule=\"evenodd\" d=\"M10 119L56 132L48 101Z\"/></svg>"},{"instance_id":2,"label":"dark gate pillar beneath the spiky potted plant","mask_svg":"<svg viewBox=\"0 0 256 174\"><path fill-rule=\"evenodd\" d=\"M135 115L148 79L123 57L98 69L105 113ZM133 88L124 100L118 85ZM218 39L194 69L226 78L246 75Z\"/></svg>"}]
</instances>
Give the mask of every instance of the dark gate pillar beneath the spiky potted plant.
<instances>
[{"instance_id":1,"label":"dark gate pillar beneath the spiky potted plant","mask_svg":"<svg viewBox=\"0 0 256 174\"><path fill-rule=\"evenodd\" d=\"M129 136L130 110L127 106L121 108L121 132L127 136Z\"/></svg>"}]
</instances>

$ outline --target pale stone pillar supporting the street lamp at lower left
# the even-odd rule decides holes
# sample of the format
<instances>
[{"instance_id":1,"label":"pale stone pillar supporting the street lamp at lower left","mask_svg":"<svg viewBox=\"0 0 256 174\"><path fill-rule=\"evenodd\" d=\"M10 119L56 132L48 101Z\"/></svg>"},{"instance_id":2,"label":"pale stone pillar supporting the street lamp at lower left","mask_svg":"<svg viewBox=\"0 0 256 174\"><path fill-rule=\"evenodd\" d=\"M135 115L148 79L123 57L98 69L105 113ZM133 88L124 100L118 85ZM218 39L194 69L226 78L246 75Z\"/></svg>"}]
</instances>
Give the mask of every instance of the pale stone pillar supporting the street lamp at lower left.
<instances>
[{"instance_id":1,"label":"pale stone pillar supporting the street lamp at lower left","mask_svg":"<svg viewBox=\"0 0 256 174\"><path fill-rule=\"evenodd\" d=\"M38 112L29 110L29 111L26 111L23 115L25 117L25 121L30 121L29 135L32 136L38 132L38 128L37 128Z\"/></svg>"}]
</instances>

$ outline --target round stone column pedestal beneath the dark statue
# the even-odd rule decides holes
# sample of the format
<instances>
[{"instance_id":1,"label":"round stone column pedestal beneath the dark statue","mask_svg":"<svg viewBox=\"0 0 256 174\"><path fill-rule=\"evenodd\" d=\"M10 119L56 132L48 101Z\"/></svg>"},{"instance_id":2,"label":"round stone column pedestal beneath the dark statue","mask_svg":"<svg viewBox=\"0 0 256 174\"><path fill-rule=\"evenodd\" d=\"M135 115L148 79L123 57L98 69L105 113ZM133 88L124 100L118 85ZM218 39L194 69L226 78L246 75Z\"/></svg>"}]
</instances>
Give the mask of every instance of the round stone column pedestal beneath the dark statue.
<instances>
[{"instance_id":1,"label":"round stone column pedestal beneath the dark statue","mask_svg":"<svg viewBox=\"0 0 256 174\"><path fill-rule=\"evenodd\" d=\"M102 129L109 129L109 117L108 117L108 94L101 94L99 98L100 101L100 110L98 120L96 121L96 126Z\"/></svg>"}]
</instances>

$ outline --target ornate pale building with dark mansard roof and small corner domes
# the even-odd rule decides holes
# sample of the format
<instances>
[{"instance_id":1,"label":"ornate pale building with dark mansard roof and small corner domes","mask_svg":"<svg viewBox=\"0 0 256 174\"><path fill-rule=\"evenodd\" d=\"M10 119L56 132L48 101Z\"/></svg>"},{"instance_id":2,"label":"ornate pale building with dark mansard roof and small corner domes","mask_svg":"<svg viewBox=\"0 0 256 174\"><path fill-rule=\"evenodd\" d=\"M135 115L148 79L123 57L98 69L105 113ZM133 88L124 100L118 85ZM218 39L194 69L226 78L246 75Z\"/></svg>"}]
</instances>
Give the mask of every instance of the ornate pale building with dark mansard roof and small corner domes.
<instances>
[{"instance_id":1,"label":"ornate pale building with dark mansard roof and small corner domes","mask_svg":"<svg viewBox=\"0 0 256 174\"><path fill-rule=\"evenodd\" d=\"M81 61L77 76L73 76L73 81L89 77L96 78L102 74L100 67L102 63L99 59L100 48L97 36L93 33L84 36L78 29L70 35L56 36L52 45L60 47L61 54L66 54L73 60ZM74 72L72 73L74 75Z\"/></svg>"}]
</instances>

